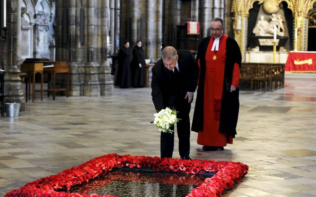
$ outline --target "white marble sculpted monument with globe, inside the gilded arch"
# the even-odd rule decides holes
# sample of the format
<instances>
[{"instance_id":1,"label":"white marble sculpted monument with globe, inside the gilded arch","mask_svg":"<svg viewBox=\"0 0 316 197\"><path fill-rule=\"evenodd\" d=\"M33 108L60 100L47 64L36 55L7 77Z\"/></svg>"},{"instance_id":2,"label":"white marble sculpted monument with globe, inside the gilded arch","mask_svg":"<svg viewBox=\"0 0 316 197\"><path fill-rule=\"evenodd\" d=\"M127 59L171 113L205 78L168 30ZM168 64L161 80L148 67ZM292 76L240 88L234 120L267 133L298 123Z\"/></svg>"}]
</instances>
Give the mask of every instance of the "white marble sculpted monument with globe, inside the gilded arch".
<instances>
[{"instance_id":1,"label":"white marble sculpted monument with globe, inside the gilded arch","mask_svg":"<svg viewBox=\"0 0 316 197\"><path fill-rule=\"evenodd\" d=\"M272 63L275 33L275 63L285 63L289 51L289 32L283 6L277 0L269 0L260 5L254 28L248 32L250 41L245 61Z\"/></svg>"}]
</instances>

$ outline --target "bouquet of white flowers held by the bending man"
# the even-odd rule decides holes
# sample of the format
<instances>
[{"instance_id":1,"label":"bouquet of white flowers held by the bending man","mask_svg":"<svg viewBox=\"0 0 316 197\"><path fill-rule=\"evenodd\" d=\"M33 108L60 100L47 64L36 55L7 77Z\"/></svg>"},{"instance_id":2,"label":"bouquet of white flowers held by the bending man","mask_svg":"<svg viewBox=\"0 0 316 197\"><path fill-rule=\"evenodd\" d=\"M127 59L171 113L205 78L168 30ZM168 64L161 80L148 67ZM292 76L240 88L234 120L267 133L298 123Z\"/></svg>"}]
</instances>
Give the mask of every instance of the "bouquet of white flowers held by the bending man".
<instances>
[{"instance_id":1,"label":"bouquet of white flowers held by the bending man","mask_svg":"<svg viewBox=\"0 0 316 197\"><path fill-rule=\"evenodd\" d=\"M169 107L161 109L160 112L154 114L155 118L151 123L154 123L161 132L172 133L173 130L170 127L180 120L177 118L177 113L177 111Z\"/></svg>"}]
</instances>

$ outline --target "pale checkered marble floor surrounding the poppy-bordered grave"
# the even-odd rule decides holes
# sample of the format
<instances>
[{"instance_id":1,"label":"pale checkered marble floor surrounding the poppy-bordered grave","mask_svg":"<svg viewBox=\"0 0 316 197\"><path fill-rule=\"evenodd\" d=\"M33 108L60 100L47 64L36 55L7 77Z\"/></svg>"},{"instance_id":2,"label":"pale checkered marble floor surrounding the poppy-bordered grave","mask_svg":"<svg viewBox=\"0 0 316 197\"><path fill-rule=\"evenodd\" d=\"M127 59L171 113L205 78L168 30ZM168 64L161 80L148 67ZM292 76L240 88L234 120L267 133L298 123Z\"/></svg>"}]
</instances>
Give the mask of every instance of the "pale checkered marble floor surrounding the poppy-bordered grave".
<instances>
[{"instance_id":1,"label":"pale checkered marble floor surrounding the poppy-bordered grave","mask_svg":"<svg viewBox=\"0 0 316 197\"><path fill-rule=\"evenodd\" d=\"M38 95L19 117L1 117L0 196L100 155L159 156L150 92L115 88L113 96L55 101ZM315 101L313 77L286 78L274 92L241 91L234 144L203 152L192 132L190 156L249 165L243 182L224 197L316 196ZM177 145L173 157L179 158Z\"/></svg>"}]
</instances>

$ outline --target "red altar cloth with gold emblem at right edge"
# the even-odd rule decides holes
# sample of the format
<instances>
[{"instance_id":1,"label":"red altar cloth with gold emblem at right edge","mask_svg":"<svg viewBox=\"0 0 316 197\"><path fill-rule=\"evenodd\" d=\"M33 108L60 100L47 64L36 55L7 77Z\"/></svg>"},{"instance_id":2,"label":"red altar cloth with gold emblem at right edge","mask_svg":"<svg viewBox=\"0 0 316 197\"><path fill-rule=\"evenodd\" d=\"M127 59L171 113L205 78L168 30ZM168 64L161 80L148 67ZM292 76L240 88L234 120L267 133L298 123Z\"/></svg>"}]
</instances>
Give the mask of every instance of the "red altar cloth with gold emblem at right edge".
<instances>
[{"instance_id":1,"label":"red altar cloth with gold emblem at right edge","mask_svg":"<svg viewBox=\"0 0 316 197\"><path fill-rule=\"evenodd\" d=\"M290 51L285 65L285 72L316 73L316 52Z\"/></svg>"}]
</instances>

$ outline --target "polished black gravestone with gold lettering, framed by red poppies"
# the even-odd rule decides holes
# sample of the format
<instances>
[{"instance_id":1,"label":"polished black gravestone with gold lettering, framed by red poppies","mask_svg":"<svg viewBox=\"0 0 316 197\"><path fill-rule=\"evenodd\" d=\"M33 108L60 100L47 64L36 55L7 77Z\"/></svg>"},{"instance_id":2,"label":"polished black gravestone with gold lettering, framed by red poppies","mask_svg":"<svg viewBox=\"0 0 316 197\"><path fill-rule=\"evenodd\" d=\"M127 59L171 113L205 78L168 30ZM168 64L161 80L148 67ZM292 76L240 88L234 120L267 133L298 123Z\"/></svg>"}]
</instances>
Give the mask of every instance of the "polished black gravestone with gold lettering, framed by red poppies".
<instances>
[{"instance_id":1,"label":"polished black gravestone with gold lettering, framed by red poppies","mask_svg":"<svg viewBox=\"0 0 316 197\"><path fill-rule=\"evenodd\" d=\"M113 169L105 175L70 190L71 193L127 197L180 197L204 182L208 174L155 172L152 170Z\"/></svg>"}]
</instances>

